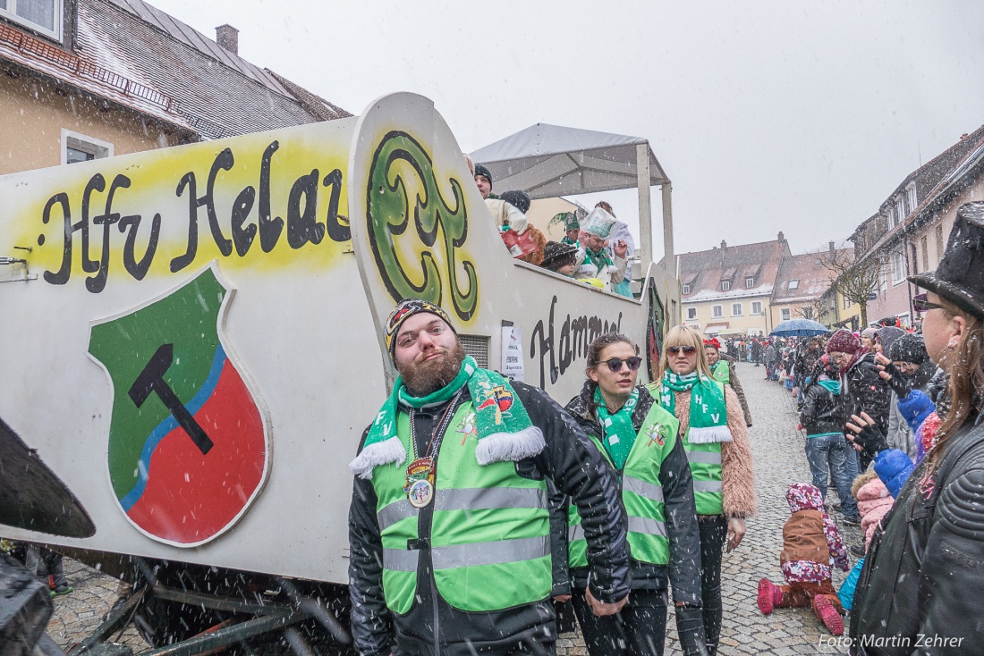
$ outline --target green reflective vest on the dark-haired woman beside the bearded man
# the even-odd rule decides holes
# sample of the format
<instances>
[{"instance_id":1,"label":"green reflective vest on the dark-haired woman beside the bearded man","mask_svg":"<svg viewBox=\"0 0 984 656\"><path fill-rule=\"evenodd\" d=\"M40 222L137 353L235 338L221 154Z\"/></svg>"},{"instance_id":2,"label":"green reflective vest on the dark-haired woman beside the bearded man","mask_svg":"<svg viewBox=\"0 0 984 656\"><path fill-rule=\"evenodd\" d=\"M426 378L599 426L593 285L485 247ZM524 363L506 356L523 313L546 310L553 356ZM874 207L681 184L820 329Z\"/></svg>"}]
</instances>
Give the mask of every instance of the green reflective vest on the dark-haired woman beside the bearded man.
<instances>
[{"instance_id":1,"label":"green reflective vest on the dark-haired woman beside the bearded man","mask_svg":"<svg viewBox=\"0 0 984 656\"><path fill-rule=\"evenodd\" d=\"M625 468L619 472L622 483L622 505L629 520L629 551L641 563L669 563L669 543L666 540L663 488L659 484L659 469L676 444L680 423L658 401L652 403L636 442L629 451ZM588 434L595 447L614 468L608 451L597 438ZM568 508L568 563L571 567L587 567L587 541L578 507Z\"/></svg>"}]
</instances>

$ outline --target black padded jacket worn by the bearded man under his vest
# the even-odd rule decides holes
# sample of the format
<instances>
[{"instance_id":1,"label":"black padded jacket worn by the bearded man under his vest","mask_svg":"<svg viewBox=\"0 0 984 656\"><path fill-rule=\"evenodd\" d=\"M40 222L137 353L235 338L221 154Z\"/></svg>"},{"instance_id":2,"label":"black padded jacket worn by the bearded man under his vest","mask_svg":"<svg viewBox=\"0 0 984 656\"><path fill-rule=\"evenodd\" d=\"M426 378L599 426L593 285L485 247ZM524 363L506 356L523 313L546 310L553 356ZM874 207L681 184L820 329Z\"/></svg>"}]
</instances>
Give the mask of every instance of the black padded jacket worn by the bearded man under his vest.
<instances>
[{"instance_id":1,"label":"black padded jacket worn by the bearded man under his vest","mask_svg":"<svg viewBox=\"0 0 984 656\"><path fill-rule=\"evenodd\" d=\"M552 480L576 500L588 536L591 593L607 603L622 599L629 593L629 545L611 468L584 431L545 391L517 382L512 386L546 441L538 455L516 463L517 472L525 478ZM465 389L461 402L468 398ZM415 413L418 452L426 450L444 408ZM363 443L365 437L363 434ZM440 468L440 461L437 466ZM356 477L348 514L348 576L352 636L360 653L465 656L478 650L482 654L512 654L520 642L542 645L556 639L554 612L548 599L492 613L469 613L449 606L433 584L429 552L420 559L416 601L406 615L394 619L383 596L383 548L376 501L372 481ZM421 537L429 537L432 516L433 504L421 510ZM503 581L503 585L508 585L508 581Z\"/></svg>"}]
</instances>

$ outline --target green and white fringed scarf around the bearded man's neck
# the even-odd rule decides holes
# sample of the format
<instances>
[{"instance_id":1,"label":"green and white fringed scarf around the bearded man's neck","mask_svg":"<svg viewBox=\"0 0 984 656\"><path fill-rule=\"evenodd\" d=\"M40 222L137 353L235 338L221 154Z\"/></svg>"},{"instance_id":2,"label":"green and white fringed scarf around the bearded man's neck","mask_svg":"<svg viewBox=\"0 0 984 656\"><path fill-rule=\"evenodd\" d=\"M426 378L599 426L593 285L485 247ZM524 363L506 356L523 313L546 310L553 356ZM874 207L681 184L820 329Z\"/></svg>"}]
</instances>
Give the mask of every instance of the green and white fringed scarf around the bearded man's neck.
<instances>
[{"instance_id":1,"label":"green and white fringed scarf around the bearded man's neck","mask_svg":"<svg viewBox=\"0 0 984 656\"><path fill-rule=\"evenodd\" d=\"M397 434L400 406L420 409L441 405L465 385L475 412L475 436L478 438L475 459L478 464L520 460L543 450L546 446L543 431L529 421L509 379L479 368L469 355L461 363L454 381L427 396L411 396L402 378L398 378L393 392L369 427L362 452L349 463L349 469L359 478L371 480L372 470L377 465L405 462L408 455Z\"/></svg>"}]
</instances>

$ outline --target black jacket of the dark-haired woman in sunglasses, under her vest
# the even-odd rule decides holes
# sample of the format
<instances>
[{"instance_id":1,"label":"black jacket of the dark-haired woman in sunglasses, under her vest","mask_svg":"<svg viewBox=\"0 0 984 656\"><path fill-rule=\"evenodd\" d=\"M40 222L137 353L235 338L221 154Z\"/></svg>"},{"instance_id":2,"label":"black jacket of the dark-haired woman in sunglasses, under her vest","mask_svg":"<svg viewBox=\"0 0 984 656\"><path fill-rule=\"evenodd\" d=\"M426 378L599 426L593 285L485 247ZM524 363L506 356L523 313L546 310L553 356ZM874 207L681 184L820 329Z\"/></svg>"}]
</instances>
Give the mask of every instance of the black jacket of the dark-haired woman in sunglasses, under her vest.
<instances>
[{"instance_id":1,"label":"black jacket of the dark-haired woman in sunglasses, under her vest","mask_svg":"<svg viewBox=\"0 0 984 656\"><path fill-rule=\"evenodd\" d=\"M632 425L638 433L643 427L646 415L655 402L649 390L639 388L639 404L632 415ZM593 412L588 411L588 401L594 393L593 384L584 385L582 392L571 399L565 409L578 420L585 433L593 435L598 442L604 440ZM619 472L621 487L621 472ZM673 581L673 600L692 606L700 606L701 598L701 533L697 524L697 507L694 501L694 479L690 473L690 463L683 443L676 441L673 449L659 468L659 484L663 488L663 512L665 514L666 534L670 543L669 567L640 563L632 560L632 588L634 590L665 590L666 573L669 569ZM555 508L556 510L556 508ZM567 503L560 509L565 520L565 530L561 540L567 551ZM554 540L557 540L555 537ZM584 589L588 568L575 567L571 578L575 588ZM631 603L631 600L630 600Z\"/></svg>"}]
</instances>

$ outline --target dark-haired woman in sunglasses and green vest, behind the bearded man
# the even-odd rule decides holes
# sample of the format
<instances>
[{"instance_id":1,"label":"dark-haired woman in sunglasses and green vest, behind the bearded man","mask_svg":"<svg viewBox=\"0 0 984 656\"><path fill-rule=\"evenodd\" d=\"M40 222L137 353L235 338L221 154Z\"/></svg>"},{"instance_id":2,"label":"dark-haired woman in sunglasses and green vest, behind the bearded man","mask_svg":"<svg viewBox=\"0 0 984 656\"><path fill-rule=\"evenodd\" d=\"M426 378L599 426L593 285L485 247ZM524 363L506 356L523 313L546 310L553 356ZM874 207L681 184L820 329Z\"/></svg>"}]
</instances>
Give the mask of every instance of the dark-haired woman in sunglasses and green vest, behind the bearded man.
<instances>
[{"instance_id":1,"label":"dark-haired woman in sunglasses and green vest, behind the bearded man","mask_svg":"<svg viewBox=\"0 0 984 656\"><path fill-rule=\"evenodd\" d=\"M580 511L570 504L568 562L575 614L590 656L663 653L667 574L673 581L677 632L684 654L705 654L701 614L701 535L679 423L643 386L642 358L628 337L609 332L587 349L587 381L567 404L621 483L629 520L632 598L615 616L597 617L584 603L590 574Z\"/></svg>"}]
</instances>

